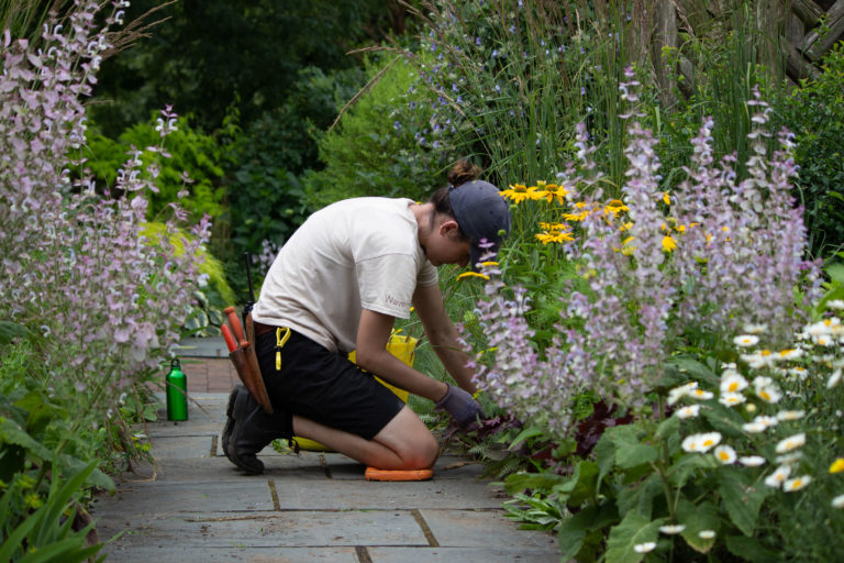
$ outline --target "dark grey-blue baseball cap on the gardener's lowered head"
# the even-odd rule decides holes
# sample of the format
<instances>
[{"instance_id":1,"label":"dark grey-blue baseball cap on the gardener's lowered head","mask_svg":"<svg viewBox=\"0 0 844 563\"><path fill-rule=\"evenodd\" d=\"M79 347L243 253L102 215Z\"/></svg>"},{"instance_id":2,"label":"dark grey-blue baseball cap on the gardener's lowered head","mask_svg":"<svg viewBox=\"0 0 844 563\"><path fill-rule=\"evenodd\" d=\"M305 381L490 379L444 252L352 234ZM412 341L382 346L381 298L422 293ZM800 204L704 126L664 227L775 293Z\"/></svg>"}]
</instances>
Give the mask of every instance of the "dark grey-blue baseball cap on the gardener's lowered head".
<instances>
[{"instance_id":1,"label":"dark grey-blue baseball cap on the gardener's lowered head","mask_svg":"<svg viewBox=\"0 0 844 563\"><path fill-rule=\"evenodd\" d=\"M471 269L477 271L480 257L487 252L498 252L503 236L510 234L512 224L510 206L497 187L482 180L452 186L448 188L448 198L457 224L471 241L469 265ZM501 231L503 236L500 234ZM482 240L492 243L493 246L481 249Z\"/></svg>"}]
</instances>

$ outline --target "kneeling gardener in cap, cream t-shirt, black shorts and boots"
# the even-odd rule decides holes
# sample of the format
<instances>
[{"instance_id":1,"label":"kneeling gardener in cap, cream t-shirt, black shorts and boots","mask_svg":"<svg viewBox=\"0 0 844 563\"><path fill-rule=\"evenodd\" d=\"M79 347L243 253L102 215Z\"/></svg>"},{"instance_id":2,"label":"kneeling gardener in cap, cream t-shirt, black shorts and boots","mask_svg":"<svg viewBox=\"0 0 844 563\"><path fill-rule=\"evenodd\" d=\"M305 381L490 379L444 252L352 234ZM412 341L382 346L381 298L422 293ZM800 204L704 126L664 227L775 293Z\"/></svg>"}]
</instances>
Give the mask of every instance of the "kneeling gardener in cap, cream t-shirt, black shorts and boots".
<instances>
[{"instance_id":1,"label":"kneeling gardener in cap, cream t-shirt, black shorts and boots","mask_svg":"<svg viewBox=\"0 0 844 563\"><path fill-rule=\"evenodd\" d=\"M436 266L473 267L510 231L498 188L457 163L430 201L356 198L313 213L278 253L255 308L256 353L274 413L242 386L229 398L226 456L262 473L256 454L293 435L380 470L433 466L438 444L419 417L379 384L436 402L466 426L480 415L469 357L445 312ZM415 308L425 334L459 387L433 379L387 351L396 318ZM277 329L290 329L279 346ZM286 331L285 331L286 332ZM356 352L357 365L347 360ZM365 369L365 371L364 371Z\"/></svg>"}]
</instances>

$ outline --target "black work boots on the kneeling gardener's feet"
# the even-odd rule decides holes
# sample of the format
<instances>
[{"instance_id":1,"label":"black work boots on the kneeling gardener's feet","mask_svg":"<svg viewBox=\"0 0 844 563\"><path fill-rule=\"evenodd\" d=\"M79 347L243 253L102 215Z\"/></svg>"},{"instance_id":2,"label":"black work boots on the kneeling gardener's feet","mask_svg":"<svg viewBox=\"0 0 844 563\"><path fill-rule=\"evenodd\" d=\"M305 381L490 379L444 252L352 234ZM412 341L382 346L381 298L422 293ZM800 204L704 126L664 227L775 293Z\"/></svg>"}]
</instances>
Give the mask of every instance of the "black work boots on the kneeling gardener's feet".
<instances>
[{"instance_id":1,"label":"black work boots on the kneeling gardener's feet","mask_svg":"<svg viewBox=\"0 0 844 563\"><path fill-rule=\"evenodd\" d=\"M277 438L292 438L292 418L279 409L267 412L243 386L229 396L227 420L223 429L223 452L240 470L248 474L264 473L256 454ZM226 432L227 430L227 432Z\"/></svg>"}]
</instances>

